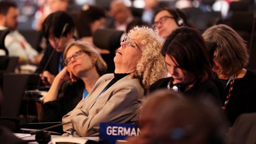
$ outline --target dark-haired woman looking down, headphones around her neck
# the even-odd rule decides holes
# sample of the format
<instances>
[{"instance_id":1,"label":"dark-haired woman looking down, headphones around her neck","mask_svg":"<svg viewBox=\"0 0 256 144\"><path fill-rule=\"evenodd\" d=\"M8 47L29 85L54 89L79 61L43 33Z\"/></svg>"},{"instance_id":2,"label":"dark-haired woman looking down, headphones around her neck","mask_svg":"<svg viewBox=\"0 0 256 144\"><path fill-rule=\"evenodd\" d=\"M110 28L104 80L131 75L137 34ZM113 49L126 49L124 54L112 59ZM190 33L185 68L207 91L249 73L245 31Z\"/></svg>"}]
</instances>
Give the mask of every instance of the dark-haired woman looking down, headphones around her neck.
<instances>
[{"instance_id":1,"label":"dark-haired woman looking down, headphones around her neck","mask_svg":"<svg viewBox=\"0 0 256 144\"><path fill-rule=\"evenodd\" d=\"M216 85L210 81L212 67L204 38L199 31L182 27L167 37L161 51L172 77L159 79L150 91L169 88L184 92L187 96L210 93L220 99Z\"/></svg>"}]
</instances>

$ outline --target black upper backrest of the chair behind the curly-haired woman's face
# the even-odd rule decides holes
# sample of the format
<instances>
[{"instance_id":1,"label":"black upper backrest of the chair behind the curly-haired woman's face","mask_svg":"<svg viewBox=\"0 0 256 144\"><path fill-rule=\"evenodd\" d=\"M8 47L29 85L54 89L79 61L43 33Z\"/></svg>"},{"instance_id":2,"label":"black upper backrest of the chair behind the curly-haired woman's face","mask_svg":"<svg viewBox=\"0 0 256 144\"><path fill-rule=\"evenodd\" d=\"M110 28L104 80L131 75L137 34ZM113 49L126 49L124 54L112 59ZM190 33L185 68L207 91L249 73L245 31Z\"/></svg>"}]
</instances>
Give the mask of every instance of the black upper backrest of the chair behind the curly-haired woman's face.
<instances>
[{"instance_id":1,"label":"black upper backrest of the chair behind the curly-haired woman's face","mask_svg":"<svg viewBox=\"0 0 256 144\"><path fill-rule=\"evenodd\" d=\"M115 29L97 29L93 33L93 44L100 49L114 52L120 46L120 39L124 31Z\"/></svg>"}]
</instances>

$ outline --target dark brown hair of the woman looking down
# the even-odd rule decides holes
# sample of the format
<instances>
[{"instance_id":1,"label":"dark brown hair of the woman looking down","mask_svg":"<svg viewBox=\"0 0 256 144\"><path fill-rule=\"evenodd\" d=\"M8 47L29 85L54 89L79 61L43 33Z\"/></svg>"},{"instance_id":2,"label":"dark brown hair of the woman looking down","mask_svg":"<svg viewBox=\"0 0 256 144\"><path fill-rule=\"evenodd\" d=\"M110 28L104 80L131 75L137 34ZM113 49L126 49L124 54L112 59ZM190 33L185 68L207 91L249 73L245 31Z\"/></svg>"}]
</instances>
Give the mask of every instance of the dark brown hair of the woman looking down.
<instances>
[{"instance_id":1,"label":"dark brown hair of the woman looking down","mask_svg":"<svg viewBox=\"0 0 256 144\"><path fill-rule=\"evenodd\" d=\"M196 78L202 78L202 81L212 77L206 43L196 29L181 27L174 30L166 38L161 53L173 57L180 69L193 73Z\"/></svg>"}]
</instances>

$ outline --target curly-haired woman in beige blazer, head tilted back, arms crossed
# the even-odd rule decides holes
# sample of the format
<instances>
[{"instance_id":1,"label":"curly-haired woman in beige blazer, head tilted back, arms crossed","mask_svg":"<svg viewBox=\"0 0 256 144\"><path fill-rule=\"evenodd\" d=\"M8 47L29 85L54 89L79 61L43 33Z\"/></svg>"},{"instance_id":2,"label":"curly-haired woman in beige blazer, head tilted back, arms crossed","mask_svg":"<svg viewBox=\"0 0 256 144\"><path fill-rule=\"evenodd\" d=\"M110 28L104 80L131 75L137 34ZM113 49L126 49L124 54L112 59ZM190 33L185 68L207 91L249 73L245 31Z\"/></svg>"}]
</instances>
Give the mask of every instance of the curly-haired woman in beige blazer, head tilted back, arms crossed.
<instances>
[{"instance_id":1,"label":"curly-haired woman in beige blazer, head tilted back, arms crossed","mask_svg":"<svg viewBox=\"0 0 256 144\"><path fill-rule=\"evenodd\" d=\"M166 76L163 39L148 27L135 27L121 42L114 58L115 73L100 77L89 95L62 118L73 122L76 136L98 136L92 128L101 122L135 123L140 113L139 99L144 99L150 84ZM70 131L71 124L63 125ZM68 135L64 133L63 135Z\"/></svg>"}]
</instances>

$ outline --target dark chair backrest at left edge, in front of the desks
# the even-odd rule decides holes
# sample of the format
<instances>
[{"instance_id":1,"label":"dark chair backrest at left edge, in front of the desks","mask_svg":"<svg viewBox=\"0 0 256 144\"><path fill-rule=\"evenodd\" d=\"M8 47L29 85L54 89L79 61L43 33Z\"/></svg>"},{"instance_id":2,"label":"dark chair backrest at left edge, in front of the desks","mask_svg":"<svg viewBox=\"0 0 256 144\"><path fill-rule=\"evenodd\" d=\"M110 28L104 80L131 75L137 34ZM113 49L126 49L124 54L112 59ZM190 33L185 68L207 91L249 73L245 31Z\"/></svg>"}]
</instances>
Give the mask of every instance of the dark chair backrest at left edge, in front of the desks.
<instances>
[{"instance_id":1,"label":"dark chair backrest at left edge, in front of the desks","mask_svg":"<svg viewBox=\"0 0 256 144\"><path fill-rule=\"evenodd\" d=\"M28 74L6 74L3 83L3 104L0 124L9 127L12 132L18 131L19 110L27 87Z\"/></svg>"}]
</instances>

